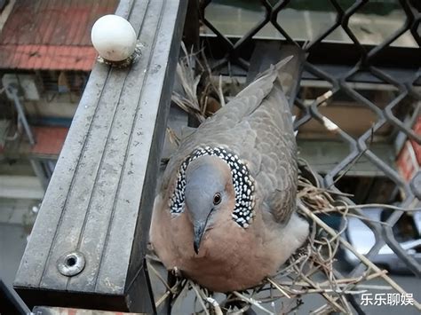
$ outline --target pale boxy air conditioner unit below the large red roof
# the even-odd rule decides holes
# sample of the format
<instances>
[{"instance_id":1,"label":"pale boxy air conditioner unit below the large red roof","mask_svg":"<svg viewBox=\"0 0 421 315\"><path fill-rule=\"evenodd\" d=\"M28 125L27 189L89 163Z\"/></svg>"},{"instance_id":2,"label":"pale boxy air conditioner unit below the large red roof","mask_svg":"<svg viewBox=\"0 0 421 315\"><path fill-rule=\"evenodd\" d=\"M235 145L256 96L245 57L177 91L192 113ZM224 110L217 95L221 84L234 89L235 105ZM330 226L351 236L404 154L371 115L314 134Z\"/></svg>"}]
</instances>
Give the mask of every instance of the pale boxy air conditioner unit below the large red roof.
<instances>
[{"instance_id":1,"label":"pale boxy air conditioner unit below the large red roof","mask_svg":"<svg viewBox=\"0 0 421 315\"><path fill-rule=\"evenodd\" d=\"M36 83L36 75L5 74L2 78L4 87L10 85L18 89L18 95L27 100L39 100L40 92ZM12 95L7 93L8 98Z\"/></svg>"}]
</instances>

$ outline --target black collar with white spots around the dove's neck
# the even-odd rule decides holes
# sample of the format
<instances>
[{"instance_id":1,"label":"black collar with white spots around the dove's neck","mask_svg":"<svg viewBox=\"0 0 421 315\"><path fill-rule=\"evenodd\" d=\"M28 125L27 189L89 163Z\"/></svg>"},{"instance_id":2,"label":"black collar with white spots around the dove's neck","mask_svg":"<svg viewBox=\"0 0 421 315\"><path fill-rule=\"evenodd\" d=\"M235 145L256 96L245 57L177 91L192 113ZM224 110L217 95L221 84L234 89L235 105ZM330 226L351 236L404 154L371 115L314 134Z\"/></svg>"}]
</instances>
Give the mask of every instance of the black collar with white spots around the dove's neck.
<instances>
[{"instance_id":1,"label":"black collar with white spots around the dove's neck","mask_svg":"<svg viewBox=\"0 0 421 315\"><path fill-rule=\"evenodd\" d=\"M255 215L254 180L244 162L236 154L223 147L198 147L181 163L177 184L170 200L171 214L178 215L184 211L187 166L191 161L195 161L195 159L204 155L216 156L229 165L235 192L235 208L231 216L243 228L248 227Z\"/></svg>"}]
</instances>

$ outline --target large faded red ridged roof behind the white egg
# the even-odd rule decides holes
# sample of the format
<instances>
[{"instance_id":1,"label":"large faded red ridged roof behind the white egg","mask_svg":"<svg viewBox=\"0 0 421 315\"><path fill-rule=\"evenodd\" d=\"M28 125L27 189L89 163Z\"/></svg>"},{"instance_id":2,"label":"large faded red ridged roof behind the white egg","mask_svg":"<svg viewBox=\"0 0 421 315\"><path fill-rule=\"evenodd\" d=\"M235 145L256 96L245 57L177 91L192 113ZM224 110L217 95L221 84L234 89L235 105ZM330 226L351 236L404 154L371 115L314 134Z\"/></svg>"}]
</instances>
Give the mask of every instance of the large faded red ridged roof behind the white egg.
<instances>
[{"instance_id":1,"label":"large faded red ridged roof behind the white egg","mask_svg":"<svg viewBox=\"0 0 421 315\"><path fill-rule=\"evenodd\" d=\"M91 27L117 2L17 0L0 34L0 68L91 70Z\"/></svg>"}]
</instances>

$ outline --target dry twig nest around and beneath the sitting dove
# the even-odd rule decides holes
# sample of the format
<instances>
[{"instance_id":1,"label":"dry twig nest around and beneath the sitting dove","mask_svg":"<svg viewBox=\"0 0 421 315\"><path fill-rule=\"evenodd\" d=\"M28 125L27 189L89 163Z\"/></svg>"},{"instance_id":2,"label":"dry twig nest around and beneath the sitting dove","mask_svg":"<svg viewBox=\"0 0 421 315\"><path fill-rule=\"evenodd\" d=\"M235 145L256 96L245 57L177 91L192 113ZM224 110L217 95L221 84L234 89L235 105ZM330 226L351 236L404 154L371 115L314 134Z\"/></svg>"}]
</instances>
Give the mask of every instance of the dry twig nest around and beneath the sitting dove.
<instances>
[{"instance_id":1,"label":"dry twig nest around and beneath the sitting dove","mask_svg":"<svg viewBox=\"0 0 421 315\"><path fill-rule=\"evenodd\" d=\"M188 54L184 48L186 57L182 59L178 67L179 81L185 91L184 95L175 94L173 100L176 104L193 114L199 122L207 116L207 100L204 96L211 91L221 106L224 105L224 87L221 80L215 84L211 82L209 67L199 66L199 71L194 65L198 65L197 57ZM203 76L207 83L203 85ZM206 81L205 80L205 81ZM202 83L201 83L202 82ZM205 88L201 90L200 85ZM203 92L204 91L204 92ZM204 94L203 94L204 93ZM298 180L298 213L306 217L311 225L311 232L306 244L290 257L279 272L271 278L264 280L258 287L250 288L243 292L232 292L227 295L214 295L207 289L198 286L191 280L180 277L178 271L174 271L175 281L168 283L162 273L157 272L155 264L149 264L149 270L162 280L165 286L163 295L156 297L156 307L163 304L177 303L188 294L194 295L194 312L204 314L241 314L241 313L266 313L288 314L296 313L303 304L306 295L320 295L324 303L312 310L314 314L330 312L353 313L358 308L358 302L354 297L360 297L366 292L406 292L386 275L385 270L380 270L369 259L361 255L353 246L346 241L344 232L348 217L359 217L353 209L372 207L372 205L350 206L343 197L344 193L322 188L319 176L314 173L306 161L298 161L300 176ZM385 208L387 206L385 205ZM326 224L321 216L339 216L341 228L339 231L332 229ZM359 217L364 220L364 217ZM349 250L354 256L365 264L365 272L357 277L346 278L336 268L339 250ZM155 262L159 261L155 256L150 256ZM381 278L385 281L384 286L374 286L369 280ZM414 306L420 309L414 301ZM170 306L171 307L171 306Z\"/></svg>"}]
</instances>

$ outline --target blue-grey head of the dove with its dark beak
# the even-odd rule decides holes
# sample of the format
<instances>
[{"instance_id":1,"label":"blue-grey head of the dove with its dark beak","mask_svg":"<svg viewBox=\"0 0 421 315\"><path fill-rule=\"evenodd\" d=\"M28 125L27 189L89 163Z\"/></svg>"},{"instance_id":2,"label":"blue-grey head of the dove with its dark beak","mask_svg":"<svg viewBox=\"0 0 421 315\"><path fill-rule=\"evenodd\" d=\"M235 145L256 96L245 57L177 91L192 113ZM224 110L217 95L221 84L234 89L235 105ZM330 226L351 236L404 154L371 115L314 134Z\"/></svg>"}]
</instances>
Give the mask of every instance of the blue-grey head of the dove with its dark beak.
<instances>
[{"instance_id":1,"label":"blue-grey head of the dove with its dark beak","mask_svg":"<svg viewBox=\"0 0 421 315\"><path fill-rule=\"evenodd\" d=\"M194 229L195 253L204 233L215 224L217 214L235 199L231 169L226 161L204 155L190 162L186 171L186 209Z\"/></svg>"}]
</instances>

